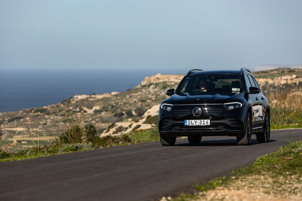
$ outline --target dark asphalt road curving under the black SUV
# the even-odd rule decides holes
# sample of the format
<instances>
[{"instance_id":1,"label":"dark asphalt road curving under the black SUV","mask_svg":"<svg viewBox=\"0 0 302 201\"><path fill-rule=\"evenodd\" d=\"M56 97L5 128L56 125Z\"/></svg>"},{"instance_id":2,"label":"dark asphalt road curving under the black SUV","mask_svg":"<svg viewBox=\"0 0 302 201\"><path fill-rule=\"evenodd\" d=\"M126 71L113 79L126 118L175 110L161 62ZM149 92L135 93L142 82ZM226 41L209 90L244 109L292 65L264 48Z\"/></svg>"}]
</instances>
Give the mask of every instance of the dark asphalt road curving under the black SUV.
<instances>
[{"instance_id":1,"label":"dark asphalt road curving under the black SUV","mask_svg":"<svg viewBox=\"0 0 302 201\"><path fill-rule=\"evenodd\" d=\"M271 131L269 143L237 146L235 137L203 137L175 146L160 142L0 163L0 200L158 200L276 151L302 129Z\"/></svg>"}]
</instances>

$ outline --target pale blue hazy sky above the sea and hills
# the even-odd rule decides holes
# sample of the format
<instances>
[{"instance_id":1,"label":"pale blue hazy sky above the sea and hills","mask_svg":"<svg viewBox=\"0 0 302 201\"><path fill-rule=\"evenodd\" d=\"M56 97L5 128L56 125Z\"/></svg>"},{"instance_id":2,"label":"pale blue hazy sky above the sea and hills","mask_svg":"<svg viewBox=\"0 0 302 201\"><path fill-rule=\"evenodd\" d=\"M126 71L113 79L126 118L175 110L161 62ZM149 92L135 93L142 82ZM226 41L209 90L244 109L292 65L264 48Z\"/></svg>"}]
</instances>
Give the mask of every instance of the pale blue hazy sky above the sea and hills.
<instances>
[{"instance_id":1,"label":"pale blue hazy sky above the sea and hills","mask_svg":"<svg viewBox=\"0 0 302 201\"><path fill-rule=\"evenodd\" d=\"M0 1L0 69L302 64L302 1Z\"/></svg>"}]
</instances>

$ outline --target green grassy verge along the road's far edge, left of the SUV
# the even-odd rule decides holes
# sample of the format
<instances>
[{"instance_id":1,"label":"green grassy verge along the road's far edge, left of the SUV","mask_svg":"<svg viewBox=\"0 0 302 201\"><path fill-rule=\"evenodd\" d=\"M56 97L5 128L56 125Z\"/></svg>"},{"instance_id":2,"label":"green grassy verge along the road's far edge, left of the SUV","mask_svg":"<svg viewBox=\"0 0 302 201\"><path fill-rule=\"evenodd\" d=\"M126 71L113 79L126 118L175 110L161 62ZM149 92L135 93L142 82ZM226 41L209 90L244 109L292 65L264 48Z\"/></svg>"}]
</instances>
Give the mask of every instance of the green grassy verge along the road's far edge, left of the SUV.
<instances>
[{"instance_id":1,"label":"green grassy verge along the road's far edge, left of the SUV","mask_svg":"<svg viewBox=\"0 0 302 201\"><path fill-rule=\"evenodd\" d=\"M112 146L131 145L138 143L146 143L159 141L158 129L150 128L146 130L135 130L130 133L123 134L121 136L106 136L92 140L85 143L72 143L63 144L58 143L58 140L54 140L50 145L42 145L38 148L16 148L20 147L20 144L14 144L9 146L3 145L0 149L0 162L33 159L39 157L45 157L50 155L57 155L63 153L85 151L91 149L100 149Z\"/></svg>"}]
</instances>

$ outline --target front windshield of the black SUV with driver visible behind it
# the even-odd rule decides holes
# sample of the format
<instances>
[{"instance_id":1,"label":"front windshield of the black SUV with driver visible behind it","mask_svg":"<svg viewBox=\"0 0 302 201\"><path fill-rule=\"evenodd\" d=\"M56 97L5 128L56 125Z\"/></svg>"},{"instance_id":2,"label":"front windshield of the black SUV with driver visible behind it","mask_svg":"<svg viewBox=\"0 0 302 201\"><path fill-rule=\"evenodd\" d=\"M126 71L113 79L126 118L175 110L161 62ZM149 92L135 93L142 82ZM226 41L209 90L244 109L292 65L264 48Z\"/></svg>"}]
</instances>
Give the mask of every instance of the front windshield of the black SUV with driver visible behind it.
<instances>
[{"instance_id":1,"label":"front windshield of the black SUV with driver visible behind it","mask_svg":"<svg viewBox=\"0 0 302 201\"><path fill-rule=\"evenodd\" d=\"M178 90L182 96L188 95L228 95L241 91L240 75L209 74L187 77Z\"/></svg>"}]
</instances>

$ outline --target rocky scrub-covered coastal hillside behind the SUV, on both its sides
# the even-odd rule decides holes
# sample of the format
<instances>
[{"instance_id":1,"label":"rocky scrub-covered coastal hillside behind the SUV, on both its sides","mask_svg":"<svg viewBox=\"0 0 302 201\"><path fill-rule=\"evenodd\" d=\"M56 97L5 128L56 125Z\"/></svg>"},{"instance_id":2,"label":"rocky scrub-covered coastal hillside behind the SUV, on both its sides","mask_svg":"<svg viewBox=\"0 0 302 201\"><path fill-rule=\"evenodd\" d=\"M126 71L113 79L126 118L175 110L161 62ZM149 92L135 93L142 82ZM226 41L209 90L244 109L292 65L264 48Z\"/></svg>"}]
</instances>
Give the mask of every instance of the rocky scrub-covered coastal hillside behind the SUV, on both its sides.
<instances>
[{"instance_id":1,"label":"rocky scrub-covered coastal hillside behind the SUV, on both its sides","mask_svg":"<svg viewBox=\"0 0 302 201\"><path fill-rule=\"evenodd\" d=\"M279 68L253 72L253 75L265 95L302 87L302 69ZM48 144L66 130L69 112L73 117L77 112L82 124L95 124L102 137L156 128L159 104L168 97L166 90L176 88L183 76L156 74L122 93L78 95L41 108L0 113L0 143L19 141L21 146L33 146L32 131L34 140L39 135L40 143Z\"/></svg>"}]
</instances>

